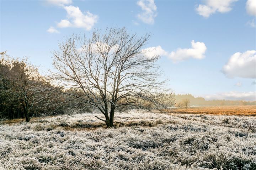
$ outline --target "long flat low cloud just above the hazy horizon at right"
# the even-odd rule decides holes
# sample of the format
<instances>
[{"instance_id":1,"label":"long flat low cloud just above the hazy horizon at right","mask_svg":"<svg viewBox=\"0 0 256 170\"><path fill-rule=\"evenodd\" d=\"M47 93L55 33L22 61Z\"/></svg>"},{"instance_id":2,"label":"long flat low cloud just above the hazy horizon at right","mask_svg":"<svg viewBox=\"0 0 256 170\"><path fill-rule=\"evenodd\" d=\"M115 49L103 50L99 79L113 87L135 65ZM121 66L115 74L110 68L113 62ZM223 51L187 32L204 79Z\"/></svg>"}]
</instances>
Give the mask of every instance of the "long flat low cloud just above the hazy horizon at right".
<instances>
[{"instance_id":1,"label":"long flat low cloud just above the hazy horizon at right","mask_svg":"<svg viewBox=\"0 0 256 170\"><path fill-rule=\"evenodd\" d=\"M206 100L245 100L256 101L256 91L250 92L223 92L213 95L202 95Z\"/></svg>"}]
</instances>

